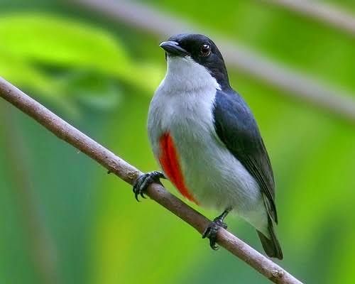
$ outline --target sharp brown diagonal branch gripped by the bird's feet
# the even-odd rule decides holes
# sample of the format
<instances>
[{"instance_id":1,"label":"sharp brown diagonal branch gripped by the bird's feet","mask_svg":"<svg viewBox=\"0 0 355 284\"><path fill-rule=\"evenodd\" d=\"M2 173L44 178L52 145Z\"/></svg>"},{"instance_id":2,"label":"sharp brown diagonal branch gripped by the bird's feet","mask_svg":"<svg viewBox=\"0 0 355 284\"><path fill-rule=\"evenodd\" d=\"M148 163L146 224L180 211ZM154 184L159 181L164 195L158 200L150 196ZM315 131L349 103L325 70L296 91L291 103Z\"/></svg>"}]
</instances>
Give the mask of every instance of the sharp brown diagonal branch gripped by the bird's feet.
<instances>
[{"instance_id":1,"label":"sharp brown diagonal branch gripped by the bird's feet","mask_svg":"<svg viewBox=\"0 0 355 284\"><path fill-rule=\"evenodd\" d=\"M28 97L28 95L21 92L20 89L17 89L1 77L0 97L4 98L18 109L21 109L21 111L31 116L50 132L54 133L55 136L70 143L130 185L133 185L138 176L142 174L141 171L133 167L133 165L130 165L125 160L107 150L107 148L104 148L104 146L92 140L92 138L89 138L89 136L75 129L74 126L71 126L59 116L53 114L53 112L43 107L34 99L31 99L31 97ZM200 234L202 234L209 222L211 222L195 209L192 209L165 190L161 185L153 184L148 187L147 195L151 197L152 200L155 200L155 202L158 202L158 204L180 217L180 219L187 222L187 224L190 224L200 232ZM273 283L302 284L300 280L297 280L293 275L276 263L273 263L273 261L263 256L261 253L258 253L258 251L252 249L251 246L245 244L244 241L241 241L225 229L219 230L217 243L242 261L248 263L249 266L273 281Z\"/></svg>"}]
</instances>

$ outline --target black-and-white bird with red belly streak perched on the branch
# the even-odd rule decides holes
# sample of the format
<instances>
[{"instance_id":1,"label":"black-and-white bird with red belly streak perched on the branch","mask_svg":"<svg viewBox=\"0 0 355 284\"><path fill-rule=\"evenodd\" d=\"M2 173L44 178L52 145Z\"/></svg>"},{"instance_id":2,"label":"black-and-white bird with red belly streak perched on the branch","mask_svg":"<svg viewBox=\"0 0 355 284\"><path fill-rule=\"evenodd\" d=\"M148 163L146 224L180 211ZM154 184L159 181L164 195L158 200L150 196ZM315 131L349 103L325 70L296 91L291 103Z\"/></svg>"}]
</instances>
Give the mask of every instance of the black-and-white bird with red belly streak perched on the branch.
<instances>
[{"instance_id":1,"label":"black-and-white bird with red belly streak perched on the branch","mask_svg":"<svg viewBox=\"0 0 355 284\"><path fill-rule=\"evenodd\" d=\"M233 212L256 229L269 257L282 259L271 161L251 109L229 83L219 48L194 33L173 35L160 48L167 72L148 110L148 136L162 171L136 180L136 200L166 178L187 200L222 212L202 234L212 249Z\"/></svg>"}]
</instances>

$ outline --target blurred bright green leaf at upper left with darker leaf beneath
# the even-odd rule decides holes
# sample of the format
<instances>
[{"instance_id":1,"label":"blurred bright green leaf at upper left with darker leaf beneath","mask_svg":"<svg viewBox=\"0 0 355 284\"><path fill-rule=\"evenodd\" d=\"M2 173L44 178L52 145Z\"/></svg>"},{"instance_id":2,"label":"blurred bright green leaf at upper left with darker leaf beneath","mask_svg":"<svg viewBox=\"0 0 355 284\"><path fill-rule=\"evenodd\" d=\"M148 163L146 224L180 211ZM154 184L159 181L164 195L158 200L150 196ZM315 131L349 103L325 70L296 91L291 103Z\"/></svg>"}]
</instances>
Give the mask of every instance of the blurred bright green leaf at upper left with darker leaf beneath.
<instances>
[{"instance_id":1,"label":"blurred bright green leaf at upper left with darker leaf beneath","mask_svg":"<svg viewBox=\"0 0 355 284\"><path fill-rule=\"evenodd\" d=\"M156 66L133 62L120 41L103 29L54 15L6 14L0 19L0 38L5 43L0 46L1 75L69 110L73 106L63 102L64 94L81 95L98 107L112 106L119 89L110 79L153 92L163 73ZM56 70L55 76L48 69ZM62 70L65 74L58 75Z\"/></svg>"}]
</instances>

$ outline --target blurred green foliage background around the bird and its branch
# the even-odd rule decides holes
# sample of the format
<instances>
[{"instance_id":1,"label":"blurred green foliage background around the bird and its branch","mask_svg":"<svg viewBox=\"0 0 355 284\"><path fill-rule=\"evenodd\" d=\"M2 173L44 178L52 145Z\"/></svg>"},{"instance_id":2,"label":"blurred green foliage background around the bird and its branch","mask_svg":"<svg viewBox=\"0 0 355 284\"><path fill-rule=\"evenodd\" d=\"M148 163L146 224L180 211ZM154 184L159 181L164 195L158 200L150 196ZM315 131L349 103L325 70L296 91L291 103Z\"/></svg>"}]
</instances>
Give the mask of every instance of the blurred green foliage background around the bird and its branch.
<instances>
[{"instance_id":1,"label":"blurred green foliage background around the bird and its branch","mask_svg":"<svg viewBox=\"0 0 355 284\"><path fill-rule=\"evenodd\" d=\"M133 16L98 11L110 1L83 2L0 0L0 76L129 163L155 170L146 114L165 72L158 43L166 37ZM165 31L223 38L333 89L334 102L343 92L354 102L354 33L275 2L151 0L134 2L133 15L143 5L165 17ZM354 1L329 4L355 17ZM271 155L280 264L305 283L355 283L354 119L226 61ZM153 201L138 204L129 185L3 100L0 147L0 283L268 283ZM251 226L228 223L261 251Z\"/></svg>"}]
</instances>

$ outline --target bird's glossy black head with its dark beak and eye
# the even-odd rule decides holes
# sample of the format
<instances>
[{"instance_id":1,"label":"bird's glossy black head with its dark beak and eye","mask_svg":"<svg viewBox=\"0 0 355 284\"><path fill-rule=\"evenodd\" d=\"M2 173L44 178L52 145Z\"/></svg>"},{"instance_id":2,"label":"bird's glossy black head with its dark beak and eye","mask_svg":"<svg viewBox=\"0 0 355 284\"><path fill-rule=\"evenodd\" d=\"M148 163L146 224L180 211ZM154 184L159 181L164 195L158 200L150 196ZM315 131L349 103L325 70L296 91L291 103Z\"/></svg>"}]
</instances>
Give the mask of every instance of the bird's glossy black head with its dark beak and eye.
<instances>
[{"instance_id":1,"label":"bird's glossy black head with its dark beak and eye","mask_svg":"<svg viewBox=\"0 0 355 284\"><path fill-rule=\"evenodd\" d=\"M182 33L160 44L169 57L190 57L206 67L222 88L229 87L228 73L217 45L205 35Z\"/></svg>"}]
</instances>

